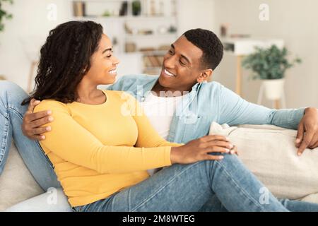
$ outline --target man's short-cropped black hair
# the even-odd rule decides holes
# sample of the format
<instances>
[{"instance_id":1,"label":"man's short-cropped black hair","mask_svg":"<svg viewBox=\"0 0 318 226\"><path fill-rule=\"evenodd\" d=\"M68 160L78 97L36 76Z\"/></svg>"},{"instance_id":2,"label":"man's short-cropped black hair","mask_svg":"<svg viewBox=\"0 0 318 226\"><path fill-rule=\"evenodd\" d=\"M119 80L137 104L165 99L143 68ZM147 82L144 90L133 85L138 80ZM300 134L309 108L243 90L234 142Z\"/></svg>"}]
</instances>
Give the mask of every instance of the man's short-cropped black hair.
<instances>
[{"instance_id":1,"label":"man's short-cropped black hair","mask_svg":"<svg viewBox=\"0 0 318 226\"><path fill-rule=\"evenodd\" d=\"M201 28L188 30L183 34L189 42L202 50L202 67L216 69L223 57L223 44L211 30Z\"/></svg>"}]
</instances>

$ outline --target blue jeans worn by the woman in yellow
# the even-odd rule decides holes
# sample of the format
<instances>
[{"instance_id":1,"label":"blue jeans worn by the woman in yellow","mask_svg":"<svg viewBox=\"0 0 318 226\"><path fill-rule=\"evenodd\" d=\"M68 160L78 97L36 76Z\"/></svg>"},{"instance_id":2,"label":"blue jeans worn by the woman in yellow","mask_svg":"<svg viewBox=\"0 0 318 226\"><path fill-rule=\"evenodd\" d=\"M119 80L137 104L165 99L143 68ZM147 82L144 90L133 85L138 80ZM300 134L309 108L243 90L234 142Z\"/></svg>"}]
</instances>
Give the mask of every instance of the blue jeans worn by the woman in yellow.
<instances>
[{"instance_id":1,"label":"blue jeans worn by the woman in yellow","mask_svg":"<svg viewBox=\"0 0 318 226\"><path fill-rule=\"evenodd\" d=\"M215 155L215 153L213 153ZM236 155L225 154L221 161L201 161L172 165L139 184L104 200L73 208L75 211L318 211L318 205L301 201L278 201L244 167ZM211 197L216 202L211 203ZM217 200L218 199L218 200ZM222 203L222 205L216 205Z\"/></svg>"}]
</instances>

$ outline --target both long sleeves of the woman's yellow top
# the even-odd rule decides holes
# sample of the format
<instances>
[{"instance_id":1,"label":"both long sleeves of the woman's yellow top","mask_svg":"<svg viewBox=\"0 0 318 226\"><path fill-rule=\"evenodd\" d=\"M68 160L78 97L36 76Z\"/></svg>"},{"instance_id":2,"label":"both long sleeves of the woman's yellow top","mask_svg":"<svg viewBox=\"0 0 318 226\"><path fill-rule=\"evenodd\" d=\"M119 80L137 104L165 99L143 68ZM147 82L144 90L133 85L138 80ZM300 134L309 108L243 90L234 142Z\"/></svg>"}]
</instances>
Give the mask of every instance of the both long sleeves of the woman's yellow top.
<instances>
[{"instance_id":1,"label":"both long sleeves of the woman's yellow top","mask_svg":"<svg viewBox=\"0 0 318 226\"><path fill-rule=\"evenodd\" d=\"M46 139L40 144L66 161L100 173L136 172L171 165L170 146L179 145L163 140L145 115L134 116L139 131L136 148L101 143L71 117L64 103L43 100L34 112L47 109L52 110L54 121L45 125L52 130L45 133Z\"/></svg>"}]
</instances>

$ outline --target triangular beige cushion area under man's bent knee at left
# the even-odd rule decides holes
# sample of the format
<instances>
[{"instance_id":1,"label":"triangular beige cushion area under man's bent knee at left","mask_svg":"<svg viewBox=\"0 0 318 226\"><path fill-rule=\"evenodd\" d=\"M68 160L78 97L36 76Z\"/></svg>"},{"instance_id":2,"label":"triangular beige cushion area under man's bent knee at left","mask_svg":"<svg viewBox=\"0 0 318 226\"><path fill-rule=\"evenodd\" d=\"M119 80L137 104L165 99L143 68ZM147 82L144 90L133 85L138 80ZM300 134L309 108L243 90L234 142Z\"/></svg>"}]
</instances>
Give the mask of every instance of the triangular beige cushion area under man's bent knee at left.
<instances>
[{"instance_id":1,"label":"triangular beige cushion area under man's bent knee at left","mask_svg":"<svg viewBox=\"0 0 318 226\"><path fill-rule=\"evenodd\" d=\"M43 192L12 143L0 176L0 211Z\"/></svg>"}]
</instances>

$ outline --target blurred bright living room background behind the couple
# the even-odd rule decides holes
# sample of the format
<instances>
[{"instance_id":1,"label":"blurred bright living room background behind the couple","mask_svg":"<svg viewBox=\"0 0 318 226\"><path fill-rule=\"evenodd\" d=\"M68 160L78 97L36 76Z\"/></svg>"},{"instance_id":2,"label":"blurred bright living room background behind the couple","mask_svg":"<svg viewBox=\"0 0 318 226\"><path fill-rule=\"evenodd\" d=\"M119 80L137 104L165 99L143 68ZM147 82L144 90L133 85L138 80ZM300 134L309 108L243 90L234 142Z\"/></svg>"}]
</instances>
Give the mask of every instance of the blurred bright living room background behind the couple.
<instances>
[{"instance_id":1,"label":"blurred bright living room background behind the couple","mask_svg":"<svg viewBox=\"0 0 318 226\"><path fill-rule=\"evenodd\" d=\"M0 0L0 79L32 91L40 47L69 20L102 24L119 76L158 75L170 44L204 28L225 47L211 81L266 107L318 107L317 8L317 0Z\"/></svg>"}]
</instances>

